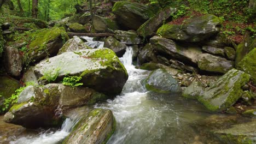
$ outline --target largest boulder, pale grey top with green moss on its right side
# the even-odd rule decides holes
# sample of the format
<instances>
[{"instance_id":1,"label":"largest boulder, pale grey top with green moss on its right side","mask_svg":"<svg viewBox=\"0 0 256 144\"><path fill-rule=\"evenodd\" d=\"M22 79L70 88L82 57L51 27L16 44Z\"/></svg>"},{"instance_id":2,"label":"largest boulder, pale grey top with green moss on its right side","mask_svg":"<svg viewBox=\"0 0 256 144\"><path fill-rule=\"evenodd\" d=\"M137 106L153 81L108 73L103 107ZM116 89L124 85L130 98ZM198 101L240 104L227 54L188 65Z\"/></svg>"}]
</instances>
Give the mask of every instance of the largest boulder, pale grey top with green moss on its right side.
<instances>
[{"instance_id":1,"label":"largest boulder, pale grey top with green moss on its right side","mask_svg":"<svg viewBox=\"0 0 256 144\"><path fill-rule=\"evenodd\" d=\"M84 87L113 95L121 92L128 79L124 65L107 48L62 53L38 63L34 73L41 83L47 83L47 75L56 74L54 82L62 81L67 74L80 76Z\"/></svg>"}]
</instances>

